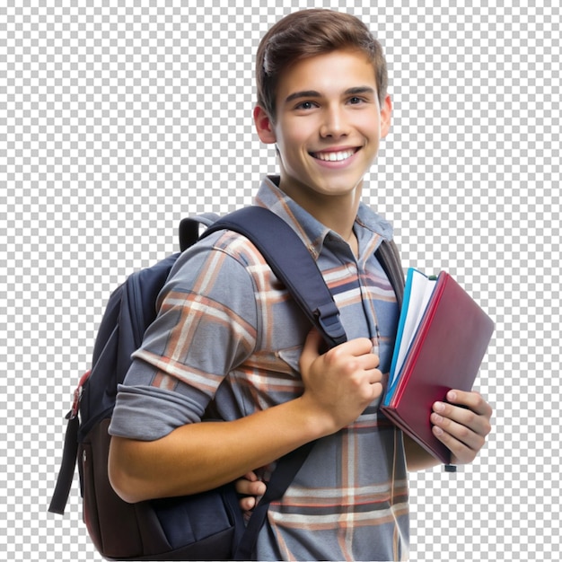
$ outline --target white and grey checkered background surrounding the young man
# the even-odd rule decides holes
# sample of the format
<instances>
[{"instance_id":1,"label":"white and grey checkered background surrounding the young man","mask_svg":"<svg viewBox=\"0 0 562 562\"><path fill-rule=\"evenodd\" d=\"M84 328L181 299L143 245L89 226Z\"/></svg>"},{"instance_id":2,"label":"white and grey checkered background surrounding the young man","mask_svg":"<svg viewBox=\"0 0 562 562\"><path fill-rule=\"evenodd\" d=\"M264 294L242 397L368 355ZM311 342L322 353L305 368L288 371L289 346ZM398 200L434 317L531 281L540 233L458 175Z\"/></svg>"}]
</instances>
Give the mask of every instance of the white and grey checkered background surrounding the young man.
<instances>
[{"instance_id":1,"label":"white and grey checkered background surrounding the young man","mask_svg":"<svg viewBox=\"0 0 562 562\"><path fill-rule=\"evenodd\" d=\"M494 433L457 474L412 475L411 558L559 560L559 3L267 4L0 2L2 558L100 559L77 486L64 517L47 507L104 303L177 248L180 217L248 204L276 170L253 54L323 6L364 19L389 61L366 200L406 266L448 269L496 321Z\"/></svg>"}]
</instances>

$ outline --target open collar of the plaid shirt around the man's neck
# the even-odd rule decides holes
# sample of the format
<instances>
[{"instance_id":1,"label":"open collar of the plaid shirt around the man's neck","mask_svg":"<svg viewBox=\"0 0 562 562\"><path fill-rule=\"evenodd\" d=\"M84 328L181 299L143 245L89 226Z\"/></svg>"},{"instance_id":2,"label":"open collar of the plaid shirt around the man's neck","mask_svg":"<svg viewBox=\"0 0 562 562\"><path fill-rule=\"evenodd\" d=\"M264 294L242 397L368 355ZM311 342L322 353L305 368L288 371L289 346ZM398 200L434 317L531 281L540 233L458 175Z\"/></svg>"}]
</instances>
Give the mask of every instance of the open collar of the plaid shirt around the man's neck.
<instances>
[{"instance_id":1,"label":"open collar of the plaid shirt around the man's neck","mask_svg":"<svg viewBox=\"0 0 562 562\"><path fill-rule=\"evenodd\" d=\"M303 243L312 252L315 259L321 253L326 236L337 233L332 231L316 220L310 213L299 206L284 191L279 189L278 176L266 176L261 182L259 191L254 199L255 205L265 206L270 211L280 216L288 223L303 240ZM369 231L370 235L377 234L382 238L391 240L392 225L382 216L377 215L369 207L361 203L356 217L356 226L359 229ZM367 234L367 233L364 233Z\"/></svg>"}]
</instances>

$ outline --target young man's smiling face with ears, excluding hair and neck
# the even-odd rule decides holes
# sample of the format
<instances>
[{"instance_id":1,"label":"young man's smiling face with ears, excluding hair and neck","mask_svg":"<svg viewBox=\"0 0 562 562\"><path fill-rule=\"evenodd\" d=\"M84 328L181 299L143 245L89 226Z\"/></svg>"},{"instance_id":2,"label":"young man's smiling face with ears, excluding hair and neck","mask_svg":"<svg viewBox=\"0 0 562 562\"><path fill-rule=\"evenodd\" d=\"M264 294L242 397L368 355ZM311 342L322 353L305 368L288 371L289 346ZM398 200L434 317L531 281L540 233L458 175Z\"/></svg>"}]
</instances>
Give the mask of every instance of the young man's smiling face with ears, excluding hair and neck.
<instances>
[{"instance_id":1,"label":"young man's smiling face with ears, excluding hair and neck","mask_svg":"<svg viewBox=\"0 0 562 562\"><path fill-rule=\"evenodd\" d=\"M360 51L338 50L289 66L277 87L277 117L254 113L260 139L277 143L281 184L309 211L356 201L391 126L391 100L379 104L373 65Z\"/></svg>"}]
</instances>

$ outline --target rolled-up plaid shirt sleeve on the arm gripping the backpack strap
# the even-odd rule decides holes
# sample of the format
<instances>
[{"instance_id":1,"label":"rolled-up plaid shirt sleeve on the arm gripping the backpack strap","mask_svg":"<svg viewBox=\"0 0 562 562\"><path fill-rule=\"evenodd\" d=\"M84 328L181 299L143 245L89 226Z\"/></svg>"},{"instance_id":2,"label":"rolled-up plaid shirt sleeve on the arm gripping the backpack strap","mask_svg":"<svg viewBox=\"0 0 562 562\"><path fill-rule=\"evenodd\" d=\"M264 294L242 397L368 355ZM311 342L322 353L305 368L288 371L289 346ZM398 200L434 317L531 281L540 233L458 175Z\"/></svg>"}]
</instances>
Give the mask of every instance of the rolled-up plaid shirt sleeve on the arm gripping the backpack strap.
<instances>
[{"instance_id":1,"label":"rolled-up plaid shirt sleeve on the arm gripping the backpack strap","mask_svg":"<svg viewBox=\"0 0 562 562\"><path fill-rule=\"evenodd\" d=\"M200 421L225 377L253 352L257 303L235 250L240 238L215 233L174 265L119 386L110 435L151 441Z\"/></svg>"}]
</instances>

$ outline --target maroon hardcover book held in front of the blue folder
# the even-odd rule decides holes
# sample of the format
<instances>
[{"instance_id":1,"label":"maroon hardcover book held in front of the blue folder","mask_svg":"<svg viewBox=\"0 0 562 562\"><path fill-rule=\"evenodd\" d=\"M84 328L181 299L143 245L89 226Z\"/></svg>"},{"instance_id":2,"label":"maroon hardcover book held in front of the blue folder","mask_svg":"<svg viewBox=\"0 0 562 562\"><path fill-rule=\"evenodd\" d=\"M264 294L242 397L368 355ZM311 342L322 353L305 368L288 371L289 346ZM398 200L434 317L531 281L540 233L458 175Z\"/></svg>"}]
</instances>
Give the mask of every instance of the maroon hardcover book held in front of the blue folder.
<instances>
[{"instance_id":1,"label":"maroon hardcover book held in front of the blue folder","mask_svg":"<svg viewBox=\"0 0 562 562\"><path fill-rule=\"evenodd\" d=\"M408 271L408 277L411 275ZM434 285L398 380L387 391L382 412L426 451L448 464L451 452L432 433L432 407L437 400L446 401L451 389L472 389L494 322L448 273L441 272ZM408 307L408 281L406 293L404 306ZM406 309L400 321L405 314Z\"/></svg>"}]
</instances>

